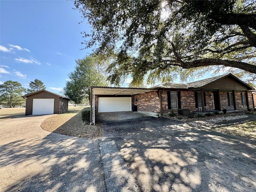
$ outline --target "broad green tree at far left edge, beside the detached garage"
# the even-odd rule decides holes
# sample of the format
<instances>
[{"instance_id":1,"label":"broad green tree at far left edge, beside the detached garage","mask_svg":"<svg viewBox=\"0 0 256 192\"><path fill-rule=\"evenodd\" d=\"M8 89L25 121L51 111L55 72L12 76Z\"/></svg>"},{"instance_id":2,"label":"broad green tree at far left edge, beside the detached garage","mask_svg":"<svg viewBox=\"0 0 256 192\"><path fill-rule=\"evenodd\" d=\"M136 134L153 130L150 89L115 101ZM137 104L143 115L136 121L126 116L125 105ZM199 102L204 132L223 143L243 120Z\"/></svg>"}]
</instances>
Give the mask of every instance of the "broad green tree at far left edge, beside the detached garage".
<instances>
[{"instance_id":1,"label":"broad green tree at far left edge, beside the detached garage","mask_svg":"<svg viewBox=\"0 0 256 192\"><path fill-rule=\"evenodd\" d=\"M14 107L24 105L22 95L26 89L17 81L6 81L0 85L0 102L1 104Z\"/></svg>"}]
</instances>

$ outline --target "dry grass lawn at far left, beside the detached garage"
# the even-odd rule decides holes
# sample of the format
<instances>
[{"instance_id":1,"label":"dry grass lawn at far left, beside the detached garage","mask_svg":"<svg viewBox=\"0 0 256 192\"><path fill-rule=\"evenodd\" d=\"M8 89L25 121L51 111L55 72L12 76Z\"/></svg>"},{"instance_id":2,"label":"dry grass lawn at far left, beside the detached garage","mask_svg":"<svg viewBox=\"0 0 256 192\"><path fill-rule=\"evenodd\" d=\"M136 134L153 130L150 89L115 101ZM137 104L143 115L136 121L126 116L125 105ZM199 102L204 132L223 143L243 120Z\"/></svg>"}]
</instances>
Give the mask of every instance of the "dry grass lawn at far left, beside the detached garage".
<instances>
[{"instance_id":1,"label":"dry grass lawn at far left, beside the detached garage","mask_svg":"<svg viewBox=\"0 0 256 192\"><path fill-rule=\"evenodd\" d=\"M25 115L26 108L2 108L0 109L0 121L8 118Z\"/></svg>"}]
</instances>

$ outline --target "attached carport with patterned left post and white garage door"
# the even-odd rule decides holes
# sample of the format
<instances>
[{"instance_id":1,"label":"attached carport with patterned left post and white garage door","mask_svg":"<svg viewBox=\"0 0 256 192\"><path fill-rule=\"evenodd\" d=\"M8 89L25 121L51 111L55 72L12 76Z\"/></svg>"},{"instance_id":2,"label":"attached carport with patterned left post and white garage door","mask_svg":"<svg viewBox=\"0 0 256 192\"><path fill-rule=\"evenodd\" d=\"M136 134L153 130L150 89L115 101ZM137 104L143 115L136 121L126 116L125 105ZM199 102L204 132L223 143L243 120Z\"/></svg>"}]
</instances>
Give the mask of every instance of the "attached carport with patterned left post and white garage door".
<instances>
[{"instance_id":1,"label":"attached carport with patterned left post and white garage door","mask_svg":"<svg viewBox=\"0 0 256 192\"><path fill-rule=\"evenodd\" d=\"M132 112L133 96L157 91L157 88L90 87L90 123L102 112Z\"/></svg>"}]
</instances>

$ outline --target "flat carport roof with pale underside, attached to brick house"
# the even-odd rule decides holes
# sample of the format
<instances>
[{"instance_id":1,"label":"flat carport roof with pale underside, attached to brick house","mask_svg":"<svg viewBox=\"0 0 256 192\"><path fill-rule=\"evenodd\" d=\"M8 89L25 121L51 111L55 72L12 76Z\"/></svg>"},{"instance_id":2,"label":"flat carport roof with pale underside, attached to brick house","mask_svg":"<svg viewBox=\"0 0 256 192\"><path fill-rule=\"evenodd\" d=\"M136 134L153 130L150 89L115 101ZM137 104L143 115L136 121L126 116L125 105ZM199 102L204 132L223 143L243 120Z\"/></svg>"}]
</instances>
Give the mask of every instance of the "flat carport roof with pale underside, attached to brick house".
<instances>
[{"instance_id":1,"label":"flat carport roof with pale underside, attached to brick house","mask_svg":"<svg viewBox=\"0 0 256 192\"><path fill-rule=\"evenodd\" d=\"M150 91L157 91L158 88L133 88L133 87L104 87L91 86L95 95L136 95Z\"/></svg>"}]
</instances>

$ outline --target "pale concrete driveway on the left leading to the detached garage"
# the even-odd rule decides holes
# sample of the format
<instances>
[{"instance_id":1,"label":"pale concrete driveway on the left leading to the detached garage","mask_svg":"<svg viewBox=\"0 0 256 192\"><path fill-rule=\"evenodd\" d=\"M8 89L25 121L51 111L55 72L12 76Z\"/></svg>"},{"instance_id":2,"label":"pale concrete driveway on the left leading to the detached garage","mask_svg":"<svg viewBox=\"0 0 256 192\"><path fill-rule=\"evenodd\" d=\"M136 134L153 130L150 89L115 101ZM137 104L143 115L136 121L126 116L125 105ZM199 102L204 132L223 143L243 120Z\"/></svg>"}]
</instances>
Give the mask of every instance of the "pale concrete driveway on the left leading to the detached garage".
<instances>
[{"instance_id":1,"label":"pale concrete driveway on the left leading to the detached garage","mask_svg":"<svg viewBox=\"0 0 256 192\"><path fill-rule=\"evenodd\" d=\"M0 191L106 191L97 141L42 130L48 117L0 121Z\"/></svg>"}]
</instances>

